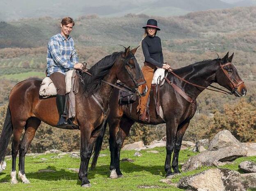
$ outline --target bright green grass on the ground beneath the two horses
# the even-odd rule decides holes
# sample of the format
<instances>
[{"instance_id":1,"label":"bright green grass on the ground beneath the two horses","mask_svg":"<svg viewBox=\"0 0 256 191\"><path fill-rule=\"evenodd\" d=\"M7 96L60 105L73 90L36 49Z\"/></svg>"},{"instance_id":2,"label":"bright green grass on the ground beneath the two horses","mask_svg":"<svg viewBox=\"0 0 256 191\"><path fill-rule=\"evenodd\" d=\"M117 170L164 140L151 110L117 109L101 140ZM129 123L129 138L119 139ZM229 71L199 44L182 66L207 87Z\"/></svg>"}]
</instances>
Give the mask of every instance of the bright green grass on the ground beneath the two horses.
<instances>
[{"instance_id":1,"label":"bright green grass on the ground beneath the two horses","mask_svg":"<svg viewBox=\"0 0 256 191\"><path fill-rule=\"evenodd\" d=\"M109 163L110 153L105 150L101 154L107 156L99 157L98 164L94 171L89 170L89 180L92 190L138 190L140 186L154 186L150 190L171 190L178 191L174 186L160 182L165 178L165 148L155 148L159 153L147 153L141 151L142 157L133 156L135 151L123 151L122 158L130 158L131 162L121 162L121 171L124 178L110 179ZM190 156L196 155L189 150L183 150L180 153L180 162L184 163ZM68 170L68 168L79 169L80 159L64 155L61 159L51 158L57 154L39 155L37 157L26 157L25 171L26 177L31 184L22 184L19 181L16 185L10 184L11 160L7 160L7 170L0 173L0 190L84 190L80 187L78 173ZM41 160L46 158L48 160ZM233 164L225 165L222 168L228 168L239 171L238 164L245 160L256 162L256 157L242 157L234 161ZM17 162L18 163L18 162ZM18 165L16 167L18 169ZM181 165L179 166L181 169ZM182 176L192 175L210 167L203 167L196 171L183 172L176 175L172 182L177 183ZM214 167L211 167L214 168ZM51 169L53 173L38 173L41 169ZM18 175L17 175L18 178Z\"/></svg>"}]
</instances>

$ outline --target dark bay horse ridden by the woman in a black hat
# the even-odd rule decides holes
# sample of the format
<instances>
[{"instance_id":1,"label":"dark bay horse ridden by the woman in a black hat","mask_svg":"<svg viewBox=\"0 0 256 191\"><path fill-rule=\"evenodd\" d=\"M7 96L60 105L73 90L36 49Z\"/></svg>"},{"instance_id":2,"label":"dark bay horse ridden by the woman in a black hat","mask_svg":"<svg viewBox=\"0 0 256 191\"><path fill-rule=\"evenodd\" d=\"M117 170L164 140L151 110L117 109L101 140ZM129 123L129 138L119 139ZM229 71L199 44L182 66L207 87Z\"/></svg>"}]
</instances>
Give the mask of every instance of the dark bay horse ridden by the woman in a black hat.
<instances>
[{"instance_id":1,"label":"dark bay horse ridden by the woman in a black hat","mask_svg":"<svg viewBox=\"0 0 256 191\"><path fill-rule=\"evenodd\" d=\"M229 57L229 53L227 53L224 58L201 61L174 70L174 72L183 79L197 85L208 87L210 84L215 82L230 90L232 92L231 94L234 93L236 97L245 96L247 89L240 78L238 71L231 63L232 58L233 54ZM194 102L188 102L181 96L181 94L174 90L169 83L165 82L164 85L160 87L160 103L165 116L165 121L157 115L153 99L150 100L149 107L150 122L139 121L139 115L136 111L138 100L132 104L132 110L130 112L130 107L127 107L126 105L119 105L119 90L114 90L110 99L110 115L107 119L107 123L110 128L110 178L119 178L123 176L120 171L120 151L123 141L135 121L142 124L153 125L166 123L166 177L168 178L169 176L174 175L174 173L180 173L178 169L178 155L181 149L181 142L190 120L197 110L196 99L204 89L185 83L171 73L168 73L167 79L178 85L190 98L194 100ZM151 92L150 97L153 98L153 92ZM97 142L100 141L102 141L102 139L97 140ZM101 144L98 143L98 145ZM171 164L171 154L173 150L174 156ZM94 151L94 155L98 156L100 147ZM93 160L92 168L95 167L96 161L97 158ZM171 171L171 166L174 169L174 173Z\"/></svg>"}]
</instances>

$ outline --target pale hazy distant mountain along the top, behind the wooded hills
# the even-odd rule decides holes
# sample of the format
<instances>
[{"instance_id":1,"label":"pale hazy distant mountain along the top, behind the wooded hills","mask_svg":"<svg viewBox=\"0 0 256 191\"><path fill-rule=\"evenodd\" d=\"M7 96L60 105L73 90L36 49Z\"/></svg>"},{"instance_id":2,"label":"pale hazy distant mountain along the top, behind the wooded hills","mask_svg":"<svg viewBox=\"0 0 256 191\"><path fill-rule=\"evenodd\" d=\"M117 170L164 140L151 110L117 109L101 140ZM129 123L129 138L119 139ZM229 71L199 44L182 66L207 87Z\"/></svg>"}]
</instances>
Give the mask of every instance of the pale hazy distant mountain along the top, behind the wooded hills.
<instances>
[{"instance_id":1,"label":"pale hazy distant mountain along the top, behind the wooded hills","mask_svg":"<svg viewBox=\"0 0 256 191\"><path fill-rule=\"evenodd\" d=\"M238 2L235 0L1 0L0 21L45 16L78 18L89 14L114 17L128 13L168 17L181 16L192 11L226 9L254 4L256 0Z\"/></svg>"}]
</instances>

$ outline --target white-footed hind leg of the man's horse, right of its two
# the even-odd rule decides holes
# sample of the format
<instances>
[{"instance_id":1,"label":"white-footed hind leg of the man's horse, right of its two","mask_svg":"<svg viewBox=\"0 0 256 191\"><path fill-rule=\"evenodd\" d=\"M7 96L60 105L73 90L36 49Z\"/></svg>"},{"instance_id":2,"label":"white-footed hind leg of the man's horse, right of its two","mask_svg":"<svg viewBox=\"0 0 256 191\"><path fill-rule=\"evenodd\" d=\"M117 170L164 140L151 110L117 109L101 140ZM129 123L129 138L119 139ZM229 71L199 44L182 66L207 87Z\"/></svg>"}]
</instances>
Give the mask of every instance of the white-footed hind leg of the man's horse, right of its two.
<instances>
[{"instance_id":1,"label":"white-footed hind leg of the man's horse, right of its two","mask_svg":"<svg viewBox=\"0 0 256 191\"><path fill-rule=\"evenodd\" d=\"M37 128L41 124L41 121L35 117L30 117L27 119L27 125L25 127L25 133L21 140L20 148L19 148L19 172L18 177L22 180L24 184L29 184L30 181L27 180L25 175L25 155L27 153L27 149L34 138L34 135L37 131Z\"/></svg>"}]
</instances>

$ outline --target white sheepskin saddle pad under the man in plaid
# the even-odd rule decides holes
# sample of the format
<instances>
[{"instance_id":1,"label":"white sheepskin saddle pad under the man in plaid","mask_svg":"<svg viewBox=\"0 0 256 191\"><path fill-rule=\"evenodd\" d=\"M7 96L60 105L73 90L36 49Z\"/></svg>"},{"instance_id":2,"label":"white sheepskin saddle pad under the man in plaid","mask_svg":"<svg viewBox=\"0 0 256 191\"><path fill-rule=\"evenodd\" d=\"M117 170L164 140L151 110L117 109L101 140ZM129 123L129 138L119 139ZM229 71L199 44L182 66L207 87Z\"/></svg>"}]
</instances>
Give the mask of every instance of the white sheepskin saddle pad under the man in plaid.
<instances>
[{"instance_id":1,"label":"white sheepskin saddle pad under the man in plaid","mask_svg":"<svg viewBox=\"0 0 256 191\"><path fill-rule=\"evenodd\" d=\"M74 70L69 70L66 73L66 94L71 91L73 71ZM55 96L56 94L57 90L53 84L53 81L49 77L44 78L40 85L39 95L43 98L47 98L50 96Z\"/></svg>"}]
</instances>

